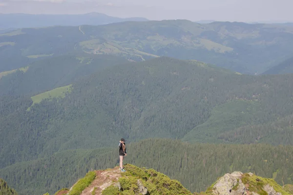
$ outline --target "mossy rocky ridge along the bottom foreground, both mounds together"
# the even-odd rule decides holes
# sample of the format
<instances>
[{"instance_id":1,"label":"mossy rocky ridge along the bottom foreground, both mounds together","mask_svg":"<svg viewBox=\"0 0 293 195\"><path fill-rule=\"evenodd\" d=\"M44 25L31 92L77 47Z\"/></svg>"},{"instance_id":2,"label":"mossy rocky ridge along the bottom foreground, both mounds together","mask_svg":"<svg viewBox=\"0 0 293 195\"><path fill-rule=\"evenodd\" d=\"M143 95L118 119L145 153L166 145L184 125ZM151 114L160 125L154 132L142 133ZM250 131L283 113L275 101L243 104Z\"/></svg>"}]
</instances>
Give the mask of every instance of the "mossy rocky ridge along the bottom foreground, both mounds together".
<instances>
[{"instance_id":1,"label":"mossy rocky ridge along the bottom foreground, both mounds together","mask_svg":"<svg viewBox=\"0 0 293 195\"><path fill-rule=\"evenodd\" d=\"M292 185L278 185L273 179L252 173L233 172L220 177L206 192L191 193L179 181L153 169L126 164L89 172L70 189L55 195L292 195ZM289 189L289 190L288 190Z\"/></svg>"}]
</instances>

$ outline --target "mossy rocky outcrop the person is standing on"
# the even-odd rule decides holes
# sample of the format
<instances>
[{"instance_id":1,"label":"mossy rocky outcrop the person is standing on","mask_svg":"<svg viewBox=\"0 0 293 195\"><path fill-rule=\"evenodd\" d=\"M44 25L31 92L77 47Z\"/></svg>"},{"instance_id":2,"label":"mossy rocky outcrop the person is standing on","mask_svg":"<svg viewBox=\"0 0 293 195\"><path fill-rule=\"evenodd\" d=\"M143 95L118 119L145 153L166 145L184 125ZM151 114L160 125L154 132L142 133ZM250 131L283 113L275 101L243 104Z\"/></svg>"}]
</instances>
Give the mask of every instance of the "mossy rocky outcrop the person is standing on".
<instances>
[{"instance_id":1,"label":"mossy rocky outcrop the person is standing on","mask_svg":"<svg viewBox=\"0 0 293 195\"><path fill-rule=\"evenodd\" d=\"M85 186L79 195L193 195L179 181L154 169L139 168L125 164L126 172L119 167L94 171L95 177ZM79 186L80 179L69 190L67 195L73 194L75 186ZM77 193L74 193L77 195Z\"/></svg>"}]
</instances>

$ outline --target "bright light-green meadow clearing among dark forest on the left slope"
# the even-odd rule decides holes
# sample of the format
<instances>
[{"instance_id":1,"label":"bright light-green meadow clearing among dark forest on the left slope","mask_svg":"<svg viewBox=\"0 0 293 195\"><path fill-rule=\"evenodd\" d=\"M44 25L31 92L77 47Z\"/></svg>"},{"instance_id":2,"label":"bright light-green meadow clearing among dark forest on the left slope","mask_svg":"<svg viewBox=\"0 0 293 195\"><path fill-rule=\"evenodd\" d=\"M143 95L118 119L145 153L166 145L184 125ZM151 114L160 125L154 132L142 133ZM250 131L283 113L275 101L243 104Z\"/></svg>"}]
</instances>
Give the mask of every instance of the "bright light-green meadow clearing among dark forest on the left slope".
<instances>
[{"instance_id":1,"label":"bright light-green meadow clearing among dark forest on the left slope","mask_svg":"<svg viewBox=\"0 0 293 195\"><path fill-rule=\"evenodd\" d=\"M52 89L50 91L44 92L42 94L38 94L36 96L31 97L33 100L33 104L27 109L27 111L30 110L30 108L36 104L36 103L40 103L43 99L49 98L65 98L66 93L70 93L71 92L71 86L72 85L67 85L67 86L63 86L63 87L58 87L56 89Z\"/></svg>"}]
</instances>

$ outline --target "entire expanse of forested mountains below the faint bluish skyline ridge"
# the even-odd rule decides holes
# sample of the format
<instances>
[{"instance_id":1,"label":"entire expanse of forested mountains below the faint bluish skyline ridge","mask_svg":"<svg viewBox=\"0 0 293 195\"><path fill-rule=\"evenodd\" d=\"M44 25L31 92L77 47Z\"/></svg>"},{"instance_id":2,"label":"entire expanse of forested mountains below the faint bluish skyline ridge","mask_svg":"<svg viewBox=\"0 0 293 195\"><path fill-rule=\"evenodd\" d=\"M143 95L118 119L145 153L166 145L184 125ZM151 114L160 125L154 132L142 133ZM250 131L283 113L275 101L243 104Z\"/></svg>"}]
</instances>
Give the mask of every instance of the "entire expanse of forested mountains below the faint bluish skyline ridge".
<instances>
[{"instance_id":1,"label":"entire expanse of forested mountains below the faint bluish skyline ridge","mask_svg":"<svg viewBox=\"0 0 293 195\"><path fill-rule=\"evenodd\" d=\"M233 171L293 184L292 43L290 26L241 22L3 32L0 178L52 194L117 166L124 137L126 163L190 192Z\"/></svg>"}]
</instances>

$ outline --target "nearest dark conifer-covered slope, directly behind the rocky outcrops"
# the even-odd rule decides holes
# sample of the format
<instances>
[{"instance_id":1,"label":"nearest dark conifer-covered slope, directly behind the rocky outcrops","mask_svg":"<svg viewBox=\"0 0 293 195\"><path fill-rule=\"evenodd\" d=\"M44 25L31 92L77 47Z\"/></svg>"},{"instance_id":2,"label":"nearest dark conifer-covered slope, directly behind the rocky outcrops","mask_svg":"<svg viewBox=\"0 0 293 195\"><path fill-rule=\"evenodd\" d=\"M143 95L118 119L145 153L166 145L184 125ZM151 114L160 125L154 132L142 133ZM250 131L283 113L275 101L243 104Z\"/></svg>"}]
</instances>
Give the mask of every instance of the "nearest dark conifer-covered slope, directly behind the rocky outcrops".
<instances>
[{"instance_id":1,"label":"nearest dark conifer-covered slope, directly behind the rocky outcrops","mask_svg":"<svg viewBox=\"0 0 293 195\"><path fill-rule=\"evenodd\" d=\"M119 139L118 139L119 140ZM114 143L113 145L117 145ZM118 165L118 147L63 151L0 169L20 195L50 194L70 188L88 171ZM127 143L125 163L153 168L179 180L191 192L205 191L215 178L235 170L293 184L293 147L268 144L189 144L173 139Z\"/></svg>"}]
</instances>

